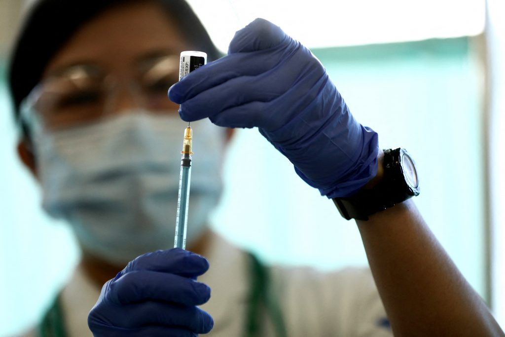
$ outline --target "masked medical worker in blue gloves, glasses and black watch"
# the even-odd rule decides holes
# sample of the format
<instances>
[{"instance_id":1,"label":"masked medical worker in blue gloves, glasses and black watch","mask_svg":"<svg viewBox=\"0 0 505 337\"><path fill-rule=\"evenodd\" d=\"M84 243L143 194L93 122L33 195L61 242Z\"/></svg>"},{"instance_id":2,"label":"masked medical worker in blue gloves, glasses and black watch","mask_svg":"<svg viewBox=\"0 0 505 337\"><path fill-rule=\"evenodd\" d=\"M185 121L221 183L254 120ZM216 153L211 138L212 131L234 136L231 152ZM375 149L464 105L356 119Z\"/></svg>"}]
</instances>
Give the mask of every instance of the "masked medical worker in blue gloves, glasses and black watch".
<instances>
[{"instance_id":1,"label":"masked medical worker in blue gloves, glasses and black watch","mask_svg":"<svg viewBox=\"0 0 505 337\"><path fill-rule=\"evenodd\" d=\"M185 50L216 61L176 83ZM274 24L250 23L219 59L182 0L40 0L9 84L19 157L82 250L27 335L503 335L410 199L408 152L380 150L323 65ZM170 249L181 118L200 149L188 251ZM335 216L356 219L371 271L266 268L209 229L236 127L257 127Z\"/></svg>"}]
</instances>

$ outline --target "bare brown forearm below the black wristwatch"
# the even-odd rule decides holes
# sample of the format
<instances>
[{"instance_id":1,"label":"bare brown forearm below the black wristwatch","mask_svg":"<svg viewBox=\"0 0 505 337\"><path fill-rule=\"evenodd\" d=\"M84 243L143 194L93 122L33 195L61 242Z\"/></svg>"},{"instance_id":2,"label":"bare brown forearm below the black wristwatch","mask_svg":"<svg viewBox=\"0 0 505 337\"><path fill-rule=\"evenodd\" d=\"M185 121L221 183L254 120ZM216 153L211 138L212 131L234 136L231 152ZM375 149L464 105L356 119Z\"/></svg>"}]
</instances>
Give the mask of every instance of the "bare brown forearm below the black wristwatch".
<instances>
[{"instance_id":1,"label":"bare brown forearm below the black wristwatch","mask_svg":"<svg viewBox=\"0 0 505 337\"><path fill-rule=\"evenodd\" d=\"M412 200L357 223L395 336L504 335Z\"/></svg>"}]
</instances>

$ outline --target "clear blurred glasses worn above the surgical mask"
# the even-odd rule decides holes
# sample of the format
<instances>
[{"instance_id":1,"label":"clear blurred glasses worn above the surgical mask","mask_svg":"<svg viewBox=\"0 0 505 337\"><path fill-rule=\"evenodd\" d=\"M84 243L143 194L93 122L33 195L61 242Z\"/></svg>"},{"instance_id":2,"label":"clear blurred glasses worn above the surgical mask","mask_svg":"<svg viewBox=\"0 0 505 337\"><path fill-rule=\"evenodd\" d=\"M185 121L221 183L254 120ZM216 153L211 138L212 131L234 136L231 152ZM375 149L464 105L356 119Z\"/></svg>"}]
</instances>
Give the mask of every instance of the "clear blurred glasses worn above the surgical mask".
<instances>
[{"instance_id":1,"label":"clear blurred glasses worn above the surgical mask","mask_svg":"<svg viewBox=\"0 0 505 337\"><path fill-rule=\"evenodd\" d=\"M73 65L35 86L21 104L21 116L29 128L70 128L113 114L125 97L136 107L173 112L177 106L168 99L167 90L178 76L177 55L143 60L133 76L106 73L95 64Z\"/></svg>"}]
</instances>

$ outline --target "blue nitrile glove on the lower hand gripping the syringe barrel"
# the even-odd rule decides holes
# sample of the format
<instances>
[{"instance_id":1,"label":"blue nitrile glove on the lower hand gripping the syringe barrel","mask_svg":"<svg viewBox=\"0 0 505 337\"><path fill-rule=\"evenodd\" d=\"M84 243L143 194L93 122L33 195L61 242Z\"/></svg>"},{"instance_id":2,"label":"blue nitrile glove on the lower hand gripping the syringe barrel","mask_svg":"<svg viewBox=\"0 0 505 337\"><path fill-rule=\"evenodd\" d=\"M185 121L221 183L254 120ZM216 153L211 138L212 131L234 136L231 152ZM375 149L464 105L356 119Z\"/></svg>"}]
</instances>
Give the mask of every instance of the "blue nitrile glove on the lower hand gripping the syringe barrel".
<instances>
[{"instance_id":1,"label":"blue nitrile glove on the lower hand gripping the syringe barrel","mask_svg":"<svg viewBox=\"0 0 505 337\"><path fill-rule=\"evenodd\" d=\"M196 281L209 262L174 248L144 254L107 281L88 325L97 336L196 336L209 332L214 321L197 305L211 289Z\"/></svg>"}]
</instances>

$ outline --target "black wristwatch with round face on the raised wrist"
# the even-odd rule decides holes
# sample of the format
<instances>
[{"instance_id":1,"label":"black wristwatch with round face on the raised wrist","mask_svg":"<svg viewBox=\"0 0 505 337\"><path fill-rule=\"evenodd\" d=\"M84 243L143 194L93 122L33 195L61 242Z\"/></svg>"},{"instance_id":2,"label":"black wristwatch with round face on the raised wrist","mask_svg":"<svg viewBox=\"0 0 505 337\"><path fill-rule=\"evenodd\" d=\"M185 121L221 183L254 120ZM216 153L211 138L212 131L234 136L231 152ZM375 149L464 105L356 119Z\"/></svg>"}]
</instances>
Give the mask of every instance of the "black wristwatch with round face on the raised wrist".
<instances>
[{"instance_id":1,"label":"black wristwatch with round face on the raised wrist","mask_svg":"<svg viewBox=\"0 0 505 337\"><path fill-rule=\"evenodd\" d=\"M416 164L405 149L384 150L384 176L371 189L360 189L347 198L334 198L347 220L368 220L368 216L419 195Z\"/></svg>"}]
</instances>

